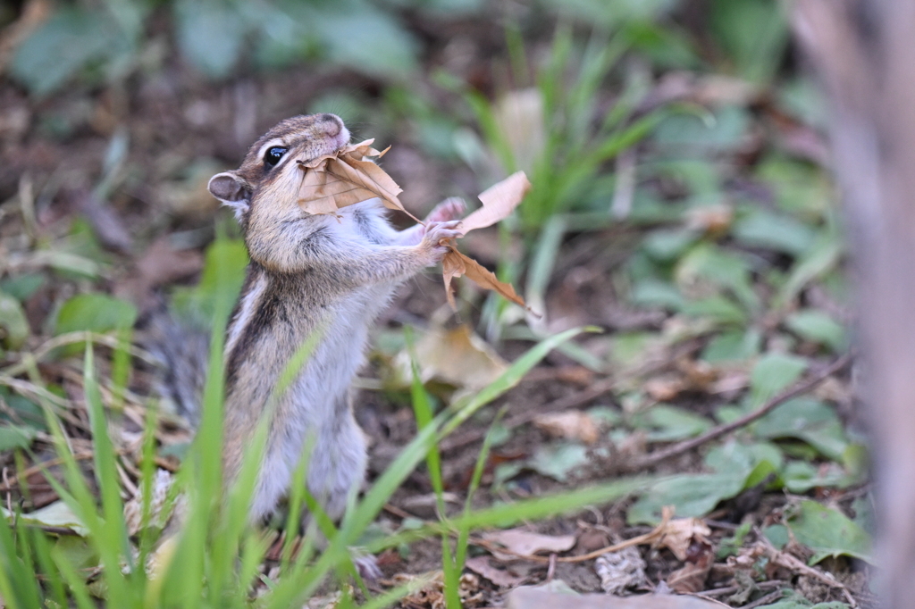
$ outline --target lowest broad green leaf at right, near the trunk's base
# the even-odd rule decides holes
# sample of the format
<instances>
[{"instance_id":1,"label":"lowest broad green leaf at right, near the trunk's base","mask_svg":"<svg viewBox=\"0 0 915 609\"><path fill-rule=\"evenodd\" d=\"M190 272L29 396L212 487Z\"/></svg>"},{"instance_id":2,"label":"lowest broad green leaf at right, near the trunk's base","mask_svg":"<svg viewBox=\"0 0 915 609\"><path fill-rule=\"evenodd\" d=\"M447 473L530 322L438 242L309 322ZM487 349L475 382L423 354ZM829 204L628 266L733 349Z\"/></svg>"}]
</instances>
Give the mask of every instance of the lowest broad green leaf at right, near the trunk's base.
<instances>
[{"instance_id":1,"label":"lowest broad green leaf at right, near the trunk's base","mask_svg":"<svg viewBox=\"0 0 915 609\"><path fill-rule=\"evenodd\" d=\"M816 501L802 501L801 512L788 521L788 527L798 541L816 552L810 564L830 556L853 556L874 563L867 531Z\"/></svg>"}]
</instances>

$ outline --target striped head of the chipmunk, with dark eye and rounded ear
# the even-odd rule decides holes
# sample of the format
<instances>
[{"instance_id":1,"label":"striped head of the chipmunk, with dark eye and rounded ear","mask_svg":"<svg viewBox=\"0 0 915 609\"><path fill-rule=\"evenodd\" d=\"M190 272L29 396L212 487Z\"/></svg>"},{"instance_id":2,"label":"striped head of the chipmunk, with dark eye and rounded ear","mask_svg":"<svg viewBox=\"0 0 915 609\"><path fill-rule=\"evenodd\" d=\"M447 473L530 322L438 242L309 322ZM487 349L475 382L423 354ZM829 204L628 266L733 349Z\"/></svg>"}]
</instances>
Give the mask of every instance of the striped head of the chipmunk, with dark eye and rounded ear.
<instances>
[{"instance_id":1,"label":"striped head of the chipmunk, with dark eye and rounded ear","mask_svg":"<svg viewBox=\"0 0 915 609\"><path fill-rule=\"evenodd\" d=\"M235 211L243 228L260 202L275 219L297 215L299 163L333 154L349 143L350 132L335 114L288 118L254 142L241 167L212 176L210 193Z\"/></svg>"}]
</instances>

